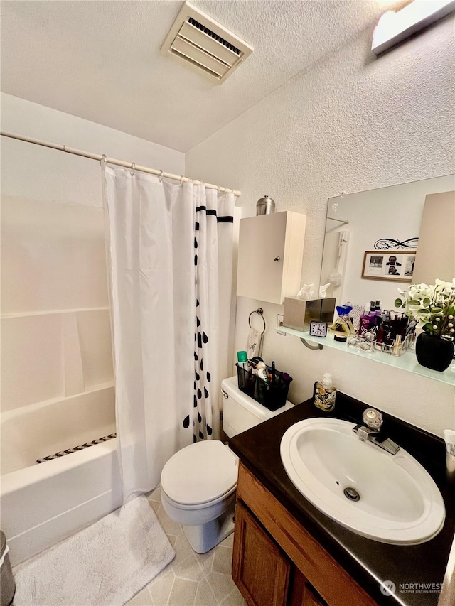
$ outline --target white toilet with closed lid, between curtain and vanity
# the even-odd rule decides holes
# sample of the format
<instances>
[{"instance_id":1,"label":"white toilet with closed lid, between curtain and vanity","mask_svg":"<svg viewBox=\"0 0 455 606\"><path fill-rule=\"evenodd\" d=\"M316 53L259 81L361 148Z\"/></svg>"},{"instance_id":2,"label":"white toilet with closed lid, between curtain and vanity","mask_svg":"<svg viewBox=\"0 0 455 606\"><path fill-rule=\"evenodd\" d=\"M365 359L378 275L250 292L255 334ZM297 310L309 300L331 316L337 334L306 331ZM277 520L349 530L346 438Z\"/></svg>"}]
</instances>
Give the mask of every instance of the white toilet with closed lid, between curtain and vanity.
<instances>
[{"instance_id":1,"label":"white toilet with closed lid, between curtain and vanity","mask_svg":"<svg viewBox=\"0 0 455 606\"><path fill-rule=\"evenodd\" d=\"M238 389L236 376L221 382L221 394L228 438L294 406L287 401L277 411L269 411ZM237 456L228 446L205 440L182 448L163 467L164 511L182 525L196 553L210 551L234 530L237 466Z\"/></svg>"}]
</instances>

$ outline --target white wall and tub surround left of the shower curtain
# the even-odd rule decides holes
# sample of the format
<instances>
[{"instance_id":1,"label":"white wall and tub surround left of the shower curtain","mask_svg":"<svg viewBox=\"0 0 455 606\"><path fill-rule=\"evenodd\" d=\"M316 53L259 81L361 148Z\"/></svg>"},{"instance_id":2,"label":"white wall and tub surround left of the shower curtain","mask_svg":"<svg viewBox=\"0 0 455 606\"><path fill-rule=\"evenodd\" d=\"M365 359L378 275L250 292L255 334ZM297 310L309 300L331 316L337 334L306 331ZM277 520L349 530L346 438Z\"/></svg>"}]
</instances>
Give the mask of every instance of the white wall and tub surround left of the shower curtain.
<instances>
[{"instance_id":1,"label":"white wall and tub surround left of the shower curtain","mask_svg":"<svg viewBox=\"0 0 455 606\"><path fill-rule=\"evenodd\" d=\"M7 94L1 129L185 171L181 152ZM1 152L1 408L8 420L27 406L105 389L113 374L100 163L5 137Z\"/></svg>"}]
</instances>

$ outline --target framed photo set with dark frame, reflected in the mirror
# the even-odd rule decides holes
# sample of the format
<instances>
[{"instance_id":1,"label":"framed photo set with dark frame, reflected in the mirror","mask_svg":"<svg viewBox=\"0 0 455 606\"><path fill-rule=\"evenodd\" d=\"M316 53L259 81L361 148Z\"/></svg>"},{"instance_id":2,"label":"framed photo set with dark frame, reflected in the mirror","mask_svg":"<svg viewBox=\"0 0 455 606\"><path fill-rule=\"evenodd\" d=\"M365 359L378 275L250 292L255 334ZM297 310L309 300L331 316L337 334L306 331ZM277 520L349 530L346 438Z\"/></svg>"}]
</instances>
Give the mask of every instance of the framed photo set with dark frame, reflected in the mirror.
<instances>
[{"instance_id":1,"label":"framed photo set with dark frame, reflected in the mirror","mask_svg":"<svg viewBox=\"0 0 455 606\"><path fill-rule=\"evenodd\" d=\"M412 281L415 251L366 251L362 278L369 280Z\"/></svg>"}]
</instances>

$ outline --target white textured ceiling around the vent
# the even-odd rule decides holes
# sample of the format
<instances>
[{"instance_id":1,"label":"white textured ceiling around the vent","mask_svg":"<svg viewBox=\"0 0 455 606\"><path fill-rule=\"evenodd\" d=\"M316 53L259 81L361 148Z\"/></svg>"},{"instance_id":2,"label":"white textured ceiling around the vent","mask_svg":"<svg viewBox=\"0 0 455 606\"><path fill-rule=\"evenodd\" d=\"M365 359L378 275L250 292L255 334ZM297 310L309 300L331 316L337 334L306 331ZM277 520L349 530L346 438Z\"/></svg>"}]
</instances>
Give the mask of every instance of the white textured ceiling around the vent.
<instances>
[{"instance_id":1,"label":"white textured ceiling around the vent","mask_svg":"<svg viewBox=\"0 0 455 606\"><path fill-rule=\"evenodd\" d=\"M188 151L373 27L384 0L193 1L255 52L222 85L160 54L181 1L1 1L1 90ZM365 49L365 53L368 49Z\"/></svg>"}]
</instances>

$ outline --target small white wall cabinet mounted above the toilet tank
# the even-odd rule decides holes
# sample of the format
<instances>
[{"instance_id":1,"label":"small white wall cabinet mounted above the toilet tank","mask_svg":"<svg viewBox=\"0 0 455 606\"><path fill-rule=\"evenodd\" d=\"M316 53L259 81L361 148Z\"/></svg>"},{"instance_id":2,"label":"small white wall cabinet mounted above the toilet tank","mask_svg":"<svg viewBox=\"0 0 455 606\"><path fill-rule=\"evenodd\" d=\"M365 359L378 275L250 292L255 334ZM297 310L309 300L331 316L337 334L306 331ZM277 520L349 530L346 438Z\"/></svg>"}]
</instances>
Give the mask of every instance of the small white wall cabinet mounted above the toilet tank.
<instances>
[{"instance_id":1,"label":"small white wall cabinet mounted above the toilet tank","mask_svg":"<svg viewBox=\"0 0 455 606\"><path fill-rule=\"evenodd\" d=\"M275 212L240 220L237 295L268 303L300 290L306 215Z\"/></svg>"}]
</instances>

